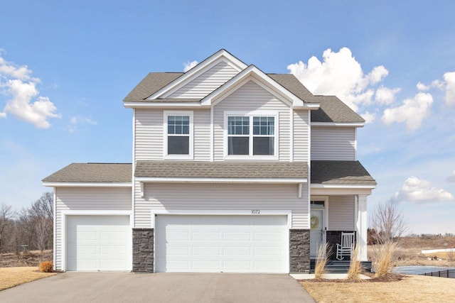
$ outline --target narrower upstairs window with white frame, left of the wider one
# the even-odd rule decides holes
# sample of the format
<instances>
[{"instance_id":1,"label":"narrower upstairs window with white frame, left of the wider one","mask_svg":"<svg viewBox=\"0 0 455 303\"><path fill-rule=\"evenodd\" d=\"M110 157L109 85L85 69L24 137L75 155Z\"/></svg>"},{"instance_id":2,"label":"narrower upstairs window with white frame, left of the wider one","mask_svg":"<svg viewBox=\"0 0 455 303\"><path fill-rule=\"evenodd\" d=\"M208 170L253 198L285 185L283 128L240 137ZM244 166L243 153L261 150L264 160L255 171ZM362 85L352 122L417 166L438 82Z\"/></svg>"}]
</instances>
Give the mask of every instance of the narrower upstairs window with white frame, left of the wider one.
<instances>
[{"instance_id":1,"label":"narrower upstairs window with white frame, left of the wider one","mask_svg":"<svg viewBox=\"0 0 455 303\"><path fill-rule=\"evenodd\" d=\"M193 113L165 111L165 157L193 156Z\"/></svg>"}]
</instances>

